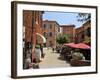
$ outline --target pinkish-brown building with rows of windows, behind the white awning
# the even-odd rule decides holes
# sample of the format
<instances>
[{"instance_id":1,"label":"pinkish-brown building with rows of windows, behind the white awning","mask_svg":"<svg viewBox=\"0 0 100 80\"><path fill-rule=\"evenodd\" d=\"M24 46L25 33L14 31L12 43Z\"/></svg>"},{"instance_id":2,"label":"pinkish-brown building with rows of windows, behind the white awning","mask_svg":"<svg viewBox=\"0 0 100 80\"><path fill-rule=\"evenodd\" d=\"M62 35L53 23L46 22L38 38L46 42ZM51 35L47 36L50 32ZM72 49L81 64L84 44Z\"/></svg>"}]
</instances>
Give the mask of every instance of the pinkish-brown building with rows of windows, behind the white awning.
<instances>
[{"instance_id":1,"label":"pinkish-brown building with rows of windows, behind the white awning","mask_svg":"<svg viewBox=\"0 0 100 80\"><path fill-rule=\"evenodd\" d=\"M59 24L56 21L43 21L43 34L46 38L47 47L56 47L56 37L60 32Z\"/></svg>"}]
</instances>

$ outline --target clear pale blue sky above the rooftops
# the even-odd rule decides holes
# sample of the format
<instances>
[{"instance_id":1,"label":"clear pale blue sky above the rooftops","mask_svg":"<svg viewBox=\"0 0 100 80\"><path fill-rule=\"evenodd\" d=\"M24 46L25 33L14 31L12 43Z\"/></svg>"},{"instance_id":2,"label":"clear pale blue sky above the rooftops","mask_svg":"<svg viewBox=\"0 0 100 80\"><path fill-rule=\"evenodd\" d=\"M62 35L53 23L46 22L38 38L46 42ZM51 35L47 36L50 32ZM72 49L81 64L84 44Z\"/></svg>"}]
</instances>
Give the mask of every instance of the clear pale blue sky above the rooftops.
<instances>
[{"instance_id":1,"label":"clear pale blue sky above the rooftops","mask_svg":"<svg viewBox=\"0 0 100 80\"><path fill-rule=\"evenodd\" d=\"M55 20L60 25L75 25L81 27L82 22L77 21L78 13L69 13L69 12L48 12L45 11L43 14L43 20Z\"/></svg>"}]
</instances>

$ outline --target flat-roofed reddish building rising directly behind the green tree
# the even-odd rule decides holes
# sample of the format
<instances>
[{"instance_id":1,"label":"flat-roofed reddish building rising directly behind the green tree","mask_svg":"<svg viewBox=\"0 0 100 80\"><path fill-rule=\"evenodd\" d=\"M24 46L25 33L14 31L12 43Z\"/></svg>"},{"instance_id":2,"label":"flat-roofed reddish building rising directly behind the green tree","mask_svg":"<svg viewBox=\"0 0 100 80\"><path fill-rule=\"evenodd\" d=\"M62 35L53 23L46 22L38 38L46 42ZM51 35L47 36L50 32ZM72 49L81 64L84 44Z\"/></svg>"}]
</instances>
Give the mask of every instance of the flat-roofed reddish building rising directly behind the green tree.
<instances>
[{"instance_id":1,"label":"flat-roofed reddish building rising directly behind the green tree","mask_svg":"<svg viewBox=\"0 0 100 80\"><path fill-rule=\"evenodd\" d=\"M62 35L68 35L70 42L75 41L75 26L74 25L61 25Z\"/></svg>"}]
</instances>

